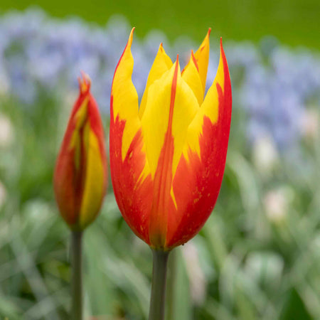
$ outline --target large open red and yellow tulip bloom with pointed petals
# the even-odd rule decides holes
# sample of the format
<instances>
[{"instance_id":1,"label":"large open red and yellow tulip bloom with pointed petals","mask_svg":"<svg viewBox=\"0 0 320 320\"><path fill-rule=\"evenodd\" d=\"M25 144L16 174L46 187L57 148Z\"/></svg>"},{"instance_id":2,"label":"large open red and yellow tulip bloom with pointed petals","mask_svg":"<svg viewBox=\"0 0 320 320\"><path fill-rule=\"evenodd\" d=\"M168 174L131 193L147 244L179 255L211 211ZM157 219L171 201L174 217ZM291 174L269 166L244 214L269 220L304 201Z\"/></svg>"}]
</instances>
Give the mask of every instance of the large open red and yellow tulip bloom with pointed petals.
<instances>
[{"instance_id":1,"label":"large open red and yellow tulip bloom with pointed petals","mask_svg":"<svg viewBox=\"0 0 320 320\"><path fill-rule=\"evenodd\" d=\"M193 238L218 198L231 119L228 63L220 63L206 97L209 34L181 72L162 44L139 107L132 83L133 31L114 73L110 167L119 209L154 249Z\"/></svg>"}]
</instances>

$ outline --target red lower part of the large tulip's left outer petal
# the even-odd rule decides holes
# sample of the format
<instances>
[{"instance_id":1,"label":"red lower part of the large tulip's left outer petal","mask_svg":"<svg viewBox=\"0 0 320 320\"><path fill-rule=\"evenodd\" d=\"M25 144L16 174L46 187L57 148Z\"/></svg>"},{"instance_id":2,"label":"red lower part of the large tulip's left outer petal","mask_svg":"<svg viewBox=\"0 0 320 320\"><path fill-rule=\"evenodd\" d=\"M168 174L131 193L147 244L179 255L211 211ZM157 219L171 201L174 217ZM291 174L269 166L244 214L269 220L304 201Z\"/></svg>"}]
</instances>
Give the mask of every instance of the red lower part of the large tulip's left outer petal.
<instances>
[{"instance_id":1,"label":"red lower part of the large tulip's left outer petal","mask_svg":"<svg viewBox=\"0 0 320 320\"><path fill-rule=\"evenodd\" d=\"M149 244L149 213L152 204L153 181L148 170L141 129L129 146L124 160L122 147L124 120L110 122L110 171L114 196L124 220L134 233ZM147 169L145 169L147 168Z\"/></svg>"}]
</instances>

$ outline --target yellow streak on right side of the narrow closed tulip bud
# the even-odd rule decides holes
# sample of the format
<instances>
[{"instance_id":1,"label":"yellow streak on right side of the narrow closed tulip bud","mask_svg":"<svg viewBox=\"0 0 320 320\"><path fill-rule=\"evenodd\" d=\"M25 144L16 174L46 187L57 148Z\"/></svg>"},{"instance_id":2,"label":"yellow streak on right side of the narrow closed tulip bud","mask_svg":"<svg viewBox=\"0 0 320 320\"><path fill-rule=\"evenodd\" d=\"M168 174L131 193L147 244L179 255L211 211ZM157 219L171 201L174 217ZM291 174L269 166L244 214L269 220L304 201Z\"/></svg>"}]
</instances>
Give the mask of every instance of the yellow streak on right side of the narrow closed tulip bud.
<instances>
[{"instance_id":1,"label":"yellow streak on right side of the narrow closed tulip bud","mask_svg":"<svg viewBox=\"0 0 320 320\"><path fill-rule=\"evenodd\" d=\"M83 139L87 151L87 164L79 217L81 228L85 228L86 225L90 224L100 210L104 196L105 175L99 142L97 136L91 130L89 122L85 124Z\"/></svg>"}]
</instances>

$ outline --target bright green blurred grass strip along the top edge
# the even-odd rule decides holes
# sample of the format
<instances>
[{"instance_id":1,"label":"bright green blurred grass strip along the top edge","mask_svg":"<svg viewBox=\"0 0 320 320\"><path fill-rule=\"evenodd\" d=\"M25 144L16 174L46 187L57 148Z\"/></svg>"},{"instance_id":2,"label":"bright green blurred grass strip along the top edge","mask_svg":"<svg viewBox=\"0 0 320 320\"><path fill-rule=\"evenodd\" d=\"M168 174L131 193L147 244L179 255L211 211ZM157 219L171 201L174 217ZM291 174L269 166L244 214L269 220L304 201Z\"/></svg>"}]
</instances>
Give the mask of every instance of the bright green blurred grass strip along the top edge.
<instances>
[{"instance_id":1,"label":"bright green blurred grass strip along the top edge","mask_svg":"<svg viewBox=\"0 0 320 320\"><path fill-rule=\"evenodd\" d=\"M100 24L113 14L123 14L137 27L139 36L158 28L171 40L188 35L200 41L210 26L215 35L224 38L257 42L273 35L289 46L320 48L319 0L7 0L0 1L0 12L31 5L53 16L76 15Z\"/></svg>"}]
</instances>

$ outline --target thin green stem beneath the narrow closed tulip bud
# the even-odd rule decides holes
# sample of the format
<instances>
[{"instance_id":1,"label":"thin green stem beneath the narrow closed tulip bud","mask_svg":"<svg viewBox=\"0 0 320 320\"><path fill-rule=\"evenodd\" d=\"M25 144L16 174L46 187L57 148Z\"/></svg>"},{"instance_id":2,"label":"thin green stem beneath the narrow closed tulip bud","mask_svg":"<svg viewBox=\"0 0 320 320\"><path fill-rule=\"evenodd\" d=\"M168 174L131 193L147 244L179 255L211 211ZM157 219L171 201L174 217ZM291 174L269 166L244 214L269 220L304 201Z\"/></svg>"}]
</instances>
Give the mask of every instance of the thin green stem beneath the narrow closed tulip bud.
<instances>
[{"instance_id":1,"label":"thin green stem beneath the narrow closed tulip bud","mask_svg":"<svg viewBox=\"0 0 320 320\"><path fill-rule=\"evenodd\" d=\"M72 231L72 318L82 320L82 231Z\"/></svg>"}]
</instances>

